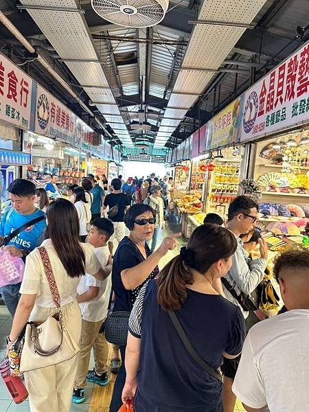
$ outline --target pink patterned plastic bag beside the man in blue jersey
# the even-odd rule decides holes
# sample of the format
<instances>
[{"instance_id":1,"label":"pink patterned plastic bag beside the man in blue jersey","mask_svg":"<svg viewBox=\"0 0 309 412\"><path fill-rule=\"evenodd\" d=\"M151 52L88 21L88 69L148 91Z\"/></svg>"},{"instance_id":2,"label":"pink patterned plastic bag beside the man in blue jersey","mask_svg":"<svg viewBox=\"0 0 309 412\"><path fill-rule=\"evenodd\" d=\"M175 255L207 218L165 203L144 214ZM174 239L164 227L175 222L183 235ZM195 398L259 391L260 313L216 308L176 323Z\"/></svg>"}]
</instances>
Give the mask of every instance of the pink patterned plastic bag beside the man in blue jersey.
<instances>
[{"instance_id":1,"label":"pink patterned plastic bag beside the man in blue jersey","mask_svg":"<svg viewBox=\"0 0 309 412\"><path fill-rule=\"evenodd\" d=\"M9 251L0 250L0 287L14 285L23 280L25 264L21 258L16 258Z\"/></svg>"}]
</instances>

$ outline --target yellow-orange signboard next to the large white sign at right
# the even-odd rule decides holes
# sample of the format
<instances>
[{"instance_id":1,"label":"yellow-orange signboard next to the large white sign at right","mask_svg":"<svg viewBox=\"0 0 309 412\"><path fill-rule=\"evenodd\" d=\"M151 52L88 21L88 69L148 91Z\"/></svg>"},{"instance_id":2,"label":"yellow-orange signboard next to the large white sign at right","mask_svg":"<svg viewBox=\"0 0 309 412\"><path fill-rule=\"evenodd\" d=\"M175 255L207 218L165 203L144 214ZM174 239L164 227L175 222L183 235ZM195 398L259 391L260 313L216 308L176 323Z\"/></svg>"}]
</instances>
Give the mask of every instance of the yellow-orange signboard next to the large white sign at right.
<instances>
[{"instance_id":1,"label":"yellow-orange signboard next to the large white sign at right","mask_svg":"<svg viewBox=\"0 0 309 412\"><path fill-rule=\"evenodd\" d=\"M237 98L209 121L210 149L220 148L239 141L241 102L242 98Z\"/></svg>"}]
</instances>

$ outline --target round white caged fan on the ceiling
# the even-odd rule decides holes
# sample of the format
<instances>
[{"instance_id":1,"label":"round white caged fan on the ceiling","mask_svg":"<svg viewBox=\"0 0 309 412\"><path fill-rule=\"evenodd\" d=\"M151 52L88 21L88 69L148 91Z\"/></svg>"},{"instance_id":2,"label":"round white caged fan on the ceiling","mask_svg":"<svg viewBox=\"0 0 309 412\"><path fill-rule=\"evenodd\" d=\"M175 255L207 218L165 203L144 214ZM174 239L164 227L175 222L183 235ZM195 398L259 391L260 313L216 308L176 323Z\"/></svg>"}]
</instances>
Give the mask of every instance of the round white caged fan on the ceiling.
<instances>
[{"instance_id":1,"label":"round white caged fan on the ceiling","mask_svg":"<svg viewBox=\"0 0 309 412\"><path fill-rule=\"evenodd\" d=\"M164 19L168 0L91 0L102 19L123 27L151 27Z\"/></svg>"}]
</instances>

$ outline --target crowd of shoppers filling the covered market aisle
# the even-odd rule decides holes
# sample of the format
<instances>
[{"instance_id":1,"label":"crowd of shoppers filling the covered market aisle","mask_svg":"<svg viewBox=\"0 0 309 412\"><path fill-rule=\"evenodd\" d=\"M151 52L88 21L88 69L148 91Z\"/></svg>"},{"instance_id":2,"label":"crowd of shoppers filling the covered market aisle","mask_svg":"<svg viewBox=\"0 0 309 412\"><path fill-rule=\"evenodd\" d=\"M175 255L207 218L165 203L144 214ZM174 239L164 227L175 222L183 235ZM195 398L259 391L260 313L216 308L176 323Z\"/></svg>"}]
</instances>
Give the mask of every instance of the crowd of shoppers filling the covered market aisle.
<instances>
[{"instance_id":1,"label":"crowd of shoppers filling the covered market aisle","mask_svg":"<svg viewBox=\"0 0 309 412\"><path fill-rule=\"evenodd\" d=\"M105 196L89 175L82 187L69 187L70 201L50 203L32 182L11 183L12 208L3 215L0 236L3 243L21 228L3 248L25 260L25 272L21 284L1 288L13 318L8 347L28 320L40 324L57 312L40 245L52 265L65 328L80 347L65 362L25 372L32 412L69 412L71 402L84 402L87 381L108 385L108 343L100 329L110 300L115 312L130 312L111 412L122 402L137 412L230 412L236 396L248 412L307 411L308 249L279 255L273 272L287 312L260 321L258 310L249 311L241 299L253 297L267 264L266 244L255 230L258 204L235 198L225 227L220 216L208 214L159 272L179 234L155 249L155 233L164 225L163 193L172 183L149 179L150 193L133 205L121 179L113 179ZM136 182L128 182L135 192ZM90 210L99 211L91 216ZM112 262L113 236L119 244ZM249 313L258 323L250 330ZM95 367L89 370L91 350Z\"/></svg>"}]
</instances>

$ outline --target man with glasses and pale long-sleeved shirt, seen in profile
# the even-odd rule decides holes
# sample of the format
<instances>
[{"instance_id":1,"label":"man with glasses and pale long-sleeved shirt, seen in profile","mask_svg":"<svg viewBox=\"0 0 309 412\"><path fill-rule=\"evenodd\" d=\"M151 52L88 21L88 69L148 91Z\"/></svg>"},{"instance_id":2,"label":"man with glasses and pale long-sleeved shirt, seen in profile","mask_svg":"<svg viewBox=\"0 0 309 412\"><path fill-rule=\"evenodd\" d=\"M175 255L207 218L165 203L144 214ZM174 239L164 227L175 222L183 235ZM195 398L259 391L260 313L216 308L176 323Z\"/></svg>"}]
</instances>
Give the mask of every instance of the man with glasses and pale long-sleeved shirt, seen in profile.
<instances>
[{"instance_id":1,"label":"man with glasses and pale long-sleeved shirt, seen in profile","mask_svg":"<svg viewBox=\"0 0 309 412\"><path fill-rule=\"evenodd\" d=\"M243 293L250 295L253 290L262 282L264 271L267 266L267 246L264 240L259 240L261 258L255 260L248 260L247 255L242 247L242 240L240 235L249 233L254 229L254 224L258 220L258 204L255 203L248 196L238 196L229 205L227 215L227 229L229 229L235 236L238 242L238 247L233 255L233 263L231 269L227 273L227 282L231 285L237 295ZM225 296L233 304L240 306L244 318L247 319L249 311L244 310L239 301L231 295L229 290L224 287ZM225 385L223 391L223 405L225 412L233 412L236 396L231 391L233 379L240 357L235 359L226 359L222 365L222 372L225 375Z\"/></svg>"}]
</instances>

